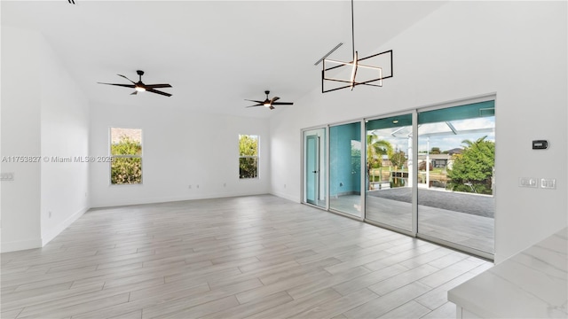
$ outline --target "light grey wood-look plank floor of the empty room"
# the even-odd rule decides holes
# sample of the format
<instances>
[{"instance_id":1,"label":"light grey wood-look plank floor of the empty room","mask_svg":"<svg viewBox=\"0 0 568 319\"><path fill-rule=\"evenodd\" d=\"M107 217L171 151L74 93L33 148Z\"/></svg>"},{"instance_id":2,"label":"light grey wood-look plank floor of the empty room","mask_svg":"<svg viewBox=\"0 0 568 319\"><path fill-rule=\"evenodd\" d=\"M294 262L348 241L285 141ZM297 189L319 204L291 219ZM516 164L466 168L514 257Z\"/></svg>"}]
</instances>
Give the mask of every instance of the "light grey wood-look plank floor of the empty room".
<instances>
[{"instance_id":1,"label":"light grey wood-look plank floor of the empty room","mask_svg":"<svg viewBox=\"0 0 568 319\"><path fill-rule=\"evenodd\" d=\"M493 266L270 195L91 210L1 257L2 318L453 318Z\"/></svg>"}]
</instances>

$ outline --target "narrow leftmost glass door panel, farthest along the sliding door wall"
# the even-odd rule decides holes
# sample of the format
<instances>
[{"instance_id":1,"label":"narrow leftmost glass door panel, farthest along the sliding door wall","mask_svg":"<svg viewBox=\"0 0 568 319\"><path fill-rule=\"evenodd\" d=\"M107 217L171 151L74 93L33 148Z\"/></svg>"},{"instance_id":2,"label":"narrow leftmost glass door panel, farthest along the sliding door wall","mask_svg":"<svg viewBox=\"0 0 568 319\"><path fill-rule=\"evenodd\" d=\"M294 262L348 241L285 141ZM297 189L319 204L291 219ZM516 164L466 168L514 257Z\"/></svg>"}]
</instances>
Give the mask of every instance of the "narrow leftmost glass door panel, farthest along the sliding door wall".
<instances>
[{"instance_id":1,"label":"narrow leftmost glass door panel, farthest along the sliding door wall","mask_svg":"<svg viewBox=\"0 0 568 319\"><path fill-rule=\"evenodd\" d=\"M304 132L304 203L326 207L326 129Z\"/></svg>"}]
</instances>

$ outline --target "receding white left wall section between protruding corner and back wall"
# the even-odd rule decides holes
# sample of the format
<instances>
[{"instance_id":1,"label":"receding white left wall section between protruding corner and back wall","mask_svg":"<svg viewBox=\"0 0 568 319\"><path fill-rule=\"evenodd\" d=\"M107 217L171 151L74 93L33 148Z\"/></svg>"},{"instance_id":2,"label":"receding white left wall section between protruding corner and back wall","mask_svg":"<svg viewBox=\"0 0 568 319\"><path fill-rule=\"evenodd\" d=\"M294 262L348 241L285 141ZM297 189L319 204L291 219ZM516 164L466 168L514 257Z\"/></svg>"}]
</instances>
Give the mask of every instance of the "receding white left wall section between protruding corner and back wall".
<instances>
[{"instance_id":1,"label":"receding white left wall section between protruding corner and back wall","mask_svg":"<svg viewBox=\"0 0 568 319\"><path fill-rule=\"evenodd\" d=\"M89 155L89 102L50 44L41 40L40 214L45 245L89 209L89 163L75 160Z\"/></svg>"}]
</instances>

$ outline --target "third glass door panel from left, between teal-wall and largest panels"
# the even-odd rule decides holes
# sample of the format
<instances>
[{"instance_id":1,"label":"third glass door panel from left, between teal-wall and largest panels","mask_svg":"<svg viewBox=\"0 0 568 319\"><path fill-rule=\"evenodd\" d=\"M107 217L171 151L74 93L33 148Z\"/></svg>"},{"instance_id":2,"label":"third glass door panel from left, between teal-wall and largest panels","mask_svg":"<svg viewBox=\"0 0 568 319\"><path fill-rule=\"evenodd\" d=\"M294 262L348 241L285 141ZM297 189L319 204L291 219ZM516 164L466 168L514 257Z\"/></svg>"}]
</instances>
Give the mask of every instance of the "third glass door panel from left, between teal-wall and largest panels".
<instances>
[{"instance_id":1,"label":"third glass door panel from left, between teal-wall and largest panels","mask_svg":"<svg viewBox=\"0 0 568 319\"><path fill-rule=\"evenodd\" d=\"M412 114L367 121L365 218L412 231Z\"/></svg>"}]
</instances>

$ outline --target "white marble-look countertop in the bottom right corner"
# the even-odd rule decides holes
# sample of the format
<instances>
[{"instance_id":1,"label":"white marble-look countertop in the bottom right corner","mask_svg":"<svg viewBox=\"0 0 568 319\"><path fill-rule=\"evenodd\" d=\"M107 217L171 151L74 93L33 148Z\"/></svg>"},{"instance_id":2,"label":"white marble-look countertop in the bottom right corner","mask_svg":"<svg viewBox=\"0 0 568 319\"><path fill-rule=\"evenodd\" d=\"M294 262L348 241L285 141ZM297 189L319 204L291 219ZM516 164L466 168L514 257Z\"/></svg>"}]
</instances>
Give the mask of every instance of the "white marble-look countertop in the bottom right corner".
<instances>
[{"instance_id":1,"label":"white marble-look countertop in the bottom right corner","mask_svg":"<svg viewBox=\"0 0 568 319\"><path fill-rule=\"evenodd\" d=\"M485 318L568 317L568 228L448 292Z\"/></svg>"}]
</instances>

